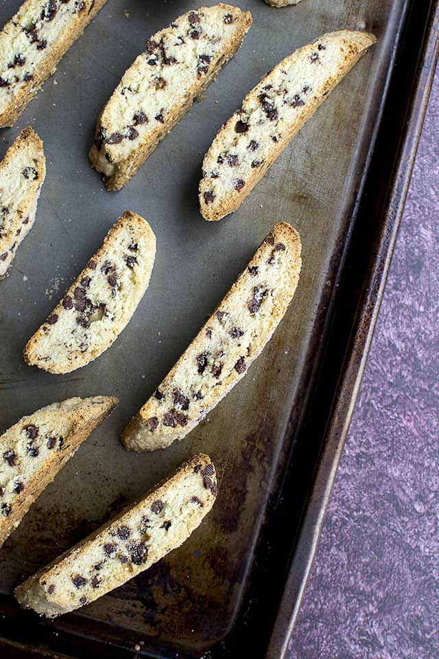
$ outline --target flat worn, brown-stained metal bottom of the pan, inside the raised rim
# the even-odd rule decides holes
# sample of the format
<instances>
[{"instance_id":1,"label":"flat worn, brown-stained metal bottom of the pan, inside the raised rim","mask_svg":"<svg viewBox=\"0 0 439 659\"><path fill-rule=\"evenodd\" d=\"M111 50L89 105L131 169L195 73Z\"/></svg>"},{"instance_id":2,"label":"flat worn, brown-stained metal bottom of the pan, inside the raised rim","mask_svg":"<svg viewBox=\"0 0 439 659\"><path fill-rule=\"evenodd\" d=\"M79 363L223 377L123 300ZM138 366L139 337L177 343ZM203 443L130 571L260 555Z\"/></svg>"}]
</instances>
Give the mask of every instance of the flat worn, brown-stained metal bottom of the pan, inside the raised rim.
<instances>
[{"instance_id":1,"label":"flat worn, brown-stained metal bottom of the pan, inside the raised rim","mask_svg":"<svg viewBox=\"0 0 439 659\"><path fill-rule=\"evenodd\" d=\"M259 0L241 2L254 19L243 47L119 193L106 192L88 165L95 118L145 38L192 3L108 0L19 123L1 132L3 154L19 130L32 124L45 143L47 179L34 229L0 284L0 428L71 395L115 394L121 404L3 546L0 593L9 594L197 450L209 452L219 479L217 504L182 548L50 629L106 636L122 645L143 639L147 646L169 645L198 656L233 627L273 477L281 472L302 412L406 4L306 0L274 10ZM2 23L17 5L1 3ZM204 222L197 188L215 130L278 60L343 27L375 32L379 43L241 209L215 225ZM27 338L126 208L147 218L158 247L150 289L134 318L111 349L80 371L59 376L26 367L21 350ZM294 303L271 343L181 443L152 454L124 451L119 434L126 422L278 220L298 229L304 267ZM17 614L14 608L8 612Z\"/></svg>"}]
</instances>

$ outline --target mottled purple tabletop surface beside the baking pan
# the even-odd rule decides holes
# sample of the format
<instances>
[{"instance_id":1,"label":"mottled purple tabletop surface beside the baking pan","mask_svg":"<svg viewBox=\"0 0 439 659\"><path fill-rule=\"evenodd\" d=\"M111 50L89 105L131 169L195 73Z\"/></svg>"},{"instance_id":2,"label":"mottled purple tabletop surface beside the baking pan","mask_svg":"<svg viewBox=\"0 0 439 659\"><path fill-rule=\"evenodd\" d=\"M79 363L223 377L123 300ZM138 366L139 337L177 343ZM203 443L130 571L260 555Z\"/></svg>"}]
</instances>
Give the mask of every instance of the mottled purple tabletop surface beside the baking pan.
<instances>
[{"instance_id":1,"label":"mottled purple tabletop surface beside the baking pan","mask_svg":"<svg viewBox=\"0 0 439 659\"><path fill-rule=\"evenodd\" d=\"M439 71L290 659L439 658Z\"/></svg>"}]
</instances>

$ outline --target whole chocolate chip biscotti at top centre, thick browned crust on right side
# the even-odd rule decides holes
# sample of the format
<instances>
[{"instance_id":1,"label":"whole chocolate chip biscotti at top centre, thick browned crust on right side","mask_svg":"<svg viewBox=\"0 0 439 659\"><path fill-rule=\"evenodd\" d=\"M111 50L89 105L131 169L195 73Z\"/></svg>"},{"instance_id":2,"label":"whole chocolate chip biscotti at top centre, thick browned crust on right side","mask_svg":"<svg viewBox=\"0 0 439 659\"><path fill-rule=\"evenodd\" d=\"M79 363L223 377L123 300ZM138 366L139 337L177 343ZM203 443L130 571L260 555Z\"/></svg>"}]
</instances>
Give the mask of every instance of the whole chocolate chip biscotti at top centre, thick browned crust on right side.
<instances>
[{"instance_id":1,"label":"whole chocolate chip biscotti at top centre, thick browned crust on right side","mask_svg":"<svg viewBox=\"0 0 439 659\"><path fill-rule=\"evenodd\" d=\"M146 42L97 119L90 160L119 190L215 80L241 45L250 12L230 5L187 12Z\"/></svg>"}]
</instances>

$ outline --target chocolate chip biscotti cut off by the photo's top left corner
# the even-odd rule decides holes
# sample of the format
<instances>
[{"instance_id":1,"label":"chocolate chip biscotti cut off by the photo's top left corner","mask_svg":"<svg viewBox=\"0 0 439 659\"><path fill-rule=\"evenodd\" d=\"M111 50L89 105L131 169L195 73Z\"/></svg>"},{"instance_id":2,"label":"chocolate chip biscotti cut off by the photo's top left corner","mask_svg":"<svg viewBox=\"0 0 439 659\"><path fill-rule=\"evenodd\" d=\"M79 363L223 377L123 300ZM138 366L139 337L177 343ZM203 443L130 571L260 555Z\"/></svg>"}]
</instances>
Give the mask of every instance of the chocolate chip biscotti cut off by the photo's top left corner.
<instances>
[{"instance_id":1,"label":"chocolate chip biscotti cut off by the photo's top left corner","mask_svg":"<svg viewBox=\"0 0 439 659\"><path fill-rule=\"evenodd\" d=\"M0 30L0 128L12 126L106 0L26 0Z\"/></svg>"}]
</instances>

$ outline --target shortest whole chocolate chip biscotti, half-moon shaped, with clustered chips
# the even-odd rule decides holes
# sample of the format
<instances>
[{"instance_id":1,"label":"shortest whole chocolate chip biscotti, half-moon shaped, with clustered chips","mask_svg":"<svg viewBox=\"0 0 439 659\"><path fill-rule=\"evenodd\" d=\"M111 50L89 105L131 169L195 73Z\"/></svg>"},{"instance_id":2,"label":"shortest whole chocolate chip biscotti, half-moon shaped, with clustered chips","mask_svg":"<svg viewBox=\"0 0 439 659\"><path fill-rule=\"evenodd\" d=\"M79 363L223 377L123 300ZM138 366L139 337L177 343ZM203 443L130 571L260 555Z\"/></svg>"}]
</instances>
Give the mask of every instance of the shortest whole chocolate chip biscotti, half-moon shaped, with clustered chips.
<instances>
[{"instance_id":1,"label":"shortest whole chocolate chip biscotti, half-moon shaped, with clustered chips","mask_svg":"<svg viewBox=\"0 0 439 659\"><path fill-rule=\"evenodd\" d=\"M49 318L29 339L29 365L69 373L88 364L128 325L150 283L156 237L146 220L125 211L108 231Z\"/></svg>"}]
</instances>

